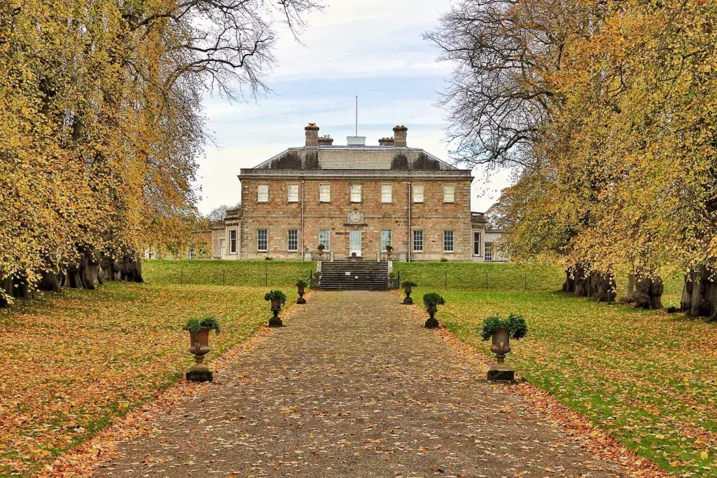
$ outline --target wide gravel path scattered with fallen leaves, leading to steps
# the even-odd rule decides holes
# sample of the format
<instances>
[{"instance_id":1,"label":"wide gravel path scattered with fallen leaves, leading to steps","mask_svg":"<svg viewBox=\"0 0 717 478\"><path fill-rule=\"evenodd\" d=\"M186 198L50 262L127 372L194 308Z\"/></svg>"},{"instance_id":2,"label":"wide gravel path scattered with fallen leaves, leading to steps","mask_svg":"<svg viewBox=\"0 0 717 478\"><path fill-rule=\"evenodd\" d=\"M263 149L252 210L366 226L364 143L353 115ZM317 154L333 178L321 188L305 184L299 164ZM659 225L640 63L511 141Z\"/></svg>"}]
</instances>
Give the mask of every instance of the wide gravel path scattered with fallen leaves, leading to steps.
<instances>
[{"instance_id":1,"label":"wide gravel path scattered with fallen leaves, leading to steps","mask_svg":"<svg viewBox=\"0 0 717 478\"><path fill-rule=\"evenodd\" d=\"M98 476L622 476L399 302L314 293Z\"/></svg>"}]
</instances>

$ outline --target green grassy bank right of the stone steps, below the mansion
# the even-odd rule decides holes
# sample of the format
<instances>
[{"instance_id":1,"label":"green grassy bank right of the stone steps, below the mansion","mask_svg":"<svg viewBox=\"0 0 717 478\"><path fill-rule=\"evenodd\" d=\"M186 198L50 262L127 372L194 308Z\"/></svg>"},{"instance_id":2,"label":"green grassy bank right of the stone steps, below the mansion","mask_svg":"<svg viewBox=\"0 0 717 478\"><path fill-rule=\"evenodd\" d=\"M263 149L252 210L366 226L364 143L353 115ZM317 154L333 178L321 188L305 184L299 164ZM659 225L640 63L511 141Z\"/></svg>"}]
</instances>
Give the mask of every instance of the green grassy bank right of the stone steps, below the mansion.
<instances>
[{"instance_id":1,"label":"green grassy bank right of the stone steps, below the mansion","mask_svg":"<svg viewBox=\"0 0 717 478\"><path fill-rule=\"evenodd\" d=\"M565 281L561 266L548 264L480 262L394 262L401 280L410 279L421 287L465 291L557 291ZM617 278L617 291L625 288ZM665 278L665 294L682 291L682 277Z\"/></svg>"}]
</instances>

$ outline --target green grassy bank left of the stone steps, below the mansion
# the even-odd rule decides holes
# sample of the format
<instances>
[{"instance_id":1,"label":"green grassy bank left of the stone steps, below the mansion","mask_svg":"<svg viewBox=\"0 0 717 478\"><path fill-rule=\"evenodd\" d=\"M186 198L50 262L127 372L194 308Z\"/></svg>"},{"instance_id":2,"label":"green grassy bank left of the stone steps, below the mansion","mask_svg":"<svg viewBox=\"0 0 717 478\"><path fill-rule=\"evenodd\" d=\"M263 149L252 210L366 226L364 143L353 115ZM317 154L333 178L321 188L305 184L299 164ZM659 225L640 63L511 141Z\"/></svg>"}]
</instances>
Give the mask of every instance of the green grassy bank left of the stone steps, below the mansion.
<instances>
[{"instance_id":1,"label":"green grassy bank left of the stone steps, below the mansion","mask_svg":"<svg viewBox=\"0 0 717 478\"><path fill-rule=\"evenodd\" d=\"M316 269L312 261L222 261L211 259L151 260L142 262L148 283L204 284L221 286L294 286Z\"/></svg>"}]
</instances>

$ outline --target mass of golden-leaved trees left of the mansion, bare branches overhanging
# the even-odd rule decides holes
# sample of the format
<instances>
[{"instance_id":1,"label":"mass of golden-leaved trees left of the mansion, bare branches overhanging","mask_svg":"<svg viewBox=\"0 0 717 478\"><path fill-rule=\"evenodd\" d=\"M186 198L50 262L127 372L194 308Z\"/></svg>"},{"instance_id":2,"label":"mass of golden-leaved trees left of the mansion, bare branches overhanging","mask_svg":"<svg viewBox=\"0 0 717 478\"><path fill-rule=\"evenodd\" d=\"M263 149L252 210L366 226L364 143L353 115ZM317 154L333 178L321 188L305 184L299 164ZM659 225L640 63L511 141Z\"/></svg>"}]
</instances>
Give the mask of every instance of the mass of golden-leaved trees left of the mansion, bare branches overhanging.
<instances>
[{"instance_id":1,"label":"mass of golden-leaved trees left of the mansion, bare branches overhanging","mask_svg":"<svg viewBox=\"0 0 717 478\"><path fill-rule=\"evenodd\" d=\"M312 0L0 5L0 305L61 284L141 281L187 243L201 96L263 88L278 22Z\"/></svg>"}]
</instances>

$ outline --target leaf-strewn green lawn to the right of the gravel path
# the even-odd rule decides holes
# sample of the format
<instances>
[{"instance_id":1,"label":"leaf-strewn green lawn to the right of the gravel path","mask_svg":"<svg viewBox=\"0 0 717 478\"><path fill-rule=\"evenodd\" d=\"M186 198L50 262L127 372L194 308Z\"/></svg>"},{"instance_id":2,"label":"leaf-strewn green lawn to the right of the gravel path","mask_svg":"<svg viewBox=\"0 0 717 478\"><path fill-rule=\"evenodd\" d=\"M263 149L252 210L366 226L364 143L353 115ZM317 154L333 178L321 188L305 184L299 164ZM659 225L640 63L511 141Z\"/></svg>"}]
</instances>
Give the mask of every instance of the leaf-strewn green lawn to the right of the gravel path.
<instances>
[{"instance_id":1,"label":"leaf-strewn green lawn to the right of the gravel path","mask_svg":"<svg viewBox=\"0 0 717 478\"><path fill-rule=\"evenodd\" d=\"M486 355L483 318L523 314L521 375L671 474L717 476L717 324L562 293L441 294L443 324Z\"/></svg>"}]
</instances>

